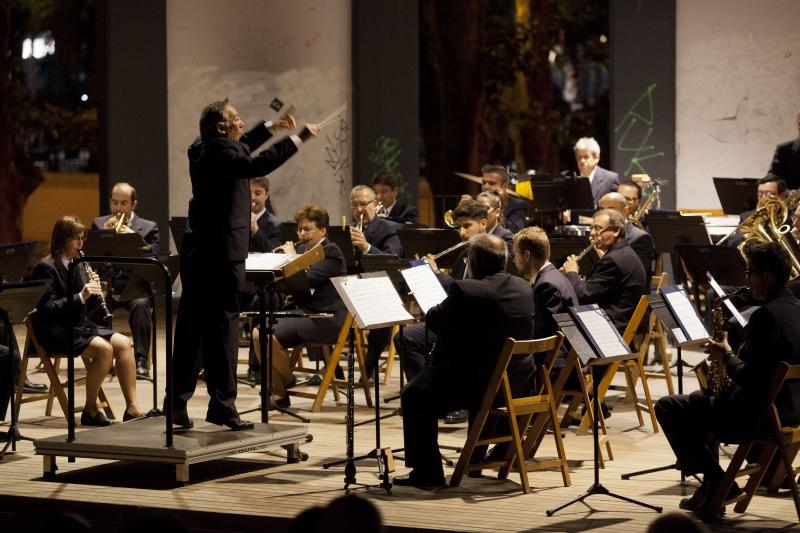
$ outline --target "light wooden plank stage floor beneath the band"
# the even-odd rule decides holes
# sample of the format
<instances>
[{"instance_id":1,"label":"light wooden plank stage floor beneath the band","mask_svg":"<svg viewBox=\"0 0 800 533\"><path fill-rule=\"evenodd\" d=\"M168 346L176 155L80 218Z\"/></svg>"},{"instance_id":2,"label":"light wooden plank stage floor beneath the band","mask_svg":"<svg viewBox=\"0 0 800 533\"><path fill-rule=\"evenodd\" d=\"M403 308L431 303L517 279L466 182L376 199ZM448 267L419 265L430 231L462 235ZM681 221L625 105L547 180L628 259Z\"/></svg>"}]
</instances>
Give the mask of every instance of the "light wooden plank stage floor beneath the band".
<instances>
[{"instance_id":1,"label":"light wooden plank stage floor beneath the band","mask_svg":"<svg viewBox=\"0 0 800 533\"><path fill-rule=\"evenodd\" d=\"M24 331L18 330L20 345L23 337ZM163 354L161 337L159 353ZM699 357L697 353L685 356L690 362ZM39 382L46 379L44 374L31 374L31 378ZM394 392L398 385L396 370L391 384L382 391ZM696 387L693 376L686 378L685 385L687 390ZM121 415L124 404L117 383L106 383L105 388ZM663 380L652 380L651 388L656 396L666 392ZM202 419L205 415L203 389L201 383L190 404L194 418ZM148 382L138 382L138 396L142 407L149 407L152 388ZM80 395L78 401L82 401ZM357 420L370 418L373 411L366 408L363 394L357 393L356 401ZM677 471L628 481L620 479L626 472L670 464L674 457L661 433L653 434L648 426L637 427L634 412L621 396L611 397L610 403L615 407L608 419L615 459L600 471L601 482L613 492L661 505L665 513L679 511L678 500L690 494L696 483L681 485ZM240 385L240 410L257 404L258 389ZM49 512L71 510L90 518L98 531L114 531L144 510L160 510L174 513L196 531L286 531L291 518L303 509L324 505L343 494L343 468L325 470L321 465L344 454L344 406L334 405L332 395L320 413L309 415L303 410L309 406L310 400L293 399L292 409L300 408L312 420L308 430L314 440L302 446L310 455L307 462L286 464L283 452L244 453L194 465L191 484L182 487L176 486L174 468L168 465L93 459L68 463L62 458L55 480L46 481L42 478L41 457L34 455L30 442L21 442L16 453L0 461L0 530L19 531L31 520L36 524ZM44 402L23 405L22 433L33 438L66 433L58 407L54 413L59 416L44 416ZM258 420L256 413L248 416ZM273 415L270 421L295 423L285 415ZM383 446L403 445L401 424L399 417L383 421ZM466 425L441 426L441 444L459 446L465 436ZM576 436L573 432L565 439L571 487L562 486L557 471L535 472L530 474L533 492L525 495L520 490L519 477L513 473L509 479L498 481L484 471L482 479L465 478L460 487L452 489L428 492L394 487L391 495L378 488L354 492L379 508L386 531L644 531L659 516L657 513L605 496L590 497L587 503L591 508L575 504L553 517L545 515L546 509L581 494L591 484L591 441L590 435ZM357 428L356 453L366 453L372 447L374 426ZM540 455L553 452L552 439L546 439ZM448 452L448 456L457 459L453 452ZM360 462L357 467L359 482L377 483L374 461ZM401 460L397 461L397 467L399 473L405 472ZM445 471L449 475L452 468L446 467ZM746 514L737 515L729 509L725 519L711 530L772 531L798 527L791 497L759 493Z\"/></svg>"}]
</instances>

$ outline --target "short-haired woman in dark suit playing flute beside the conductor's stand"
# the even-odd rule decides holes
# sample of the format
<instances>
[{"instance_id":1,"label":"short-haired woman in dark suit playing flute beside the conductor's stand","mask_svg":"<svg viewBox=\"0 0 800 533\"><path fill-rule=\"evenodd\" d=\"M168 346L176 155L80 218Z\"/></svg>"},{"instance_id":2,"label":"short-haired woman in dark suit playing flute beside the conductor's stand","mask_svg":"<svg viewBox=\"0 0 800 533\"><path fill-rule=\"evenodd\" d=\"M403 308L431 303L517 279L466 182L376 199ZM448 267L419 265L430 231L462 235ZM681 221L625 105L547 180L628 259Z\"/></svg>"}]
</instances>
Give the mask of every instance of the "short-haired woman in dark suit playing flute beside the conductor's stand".
<instances>
[{"instance_id":1,"label":"short-haired woman in dark suit playing flute beside the conductor's stand","mask_svg":"<svg viewBox=\"0 0 800 533\"><path fill-rule=\"evenodd\" d=\"M347 275L347 264L339 247L326 238L328 212L318 206L309 205L295 214L297 221L298 248L303 253L314 246L322 246L325 258L306 271L308 284L313 294L292 294L291 308L306 313L333 313L333 318L282 318L275 326L272 337L272 399L279 407L289 406L286 389L294 384L294 374L289 366L288 348L306 342L336 344L339 330L347 316L347 308L331 283L331 278ZM295 253L292 243L283 249ZM253 328L253 345L259 358L259 328Z\"/></svg>"}]
</instances>

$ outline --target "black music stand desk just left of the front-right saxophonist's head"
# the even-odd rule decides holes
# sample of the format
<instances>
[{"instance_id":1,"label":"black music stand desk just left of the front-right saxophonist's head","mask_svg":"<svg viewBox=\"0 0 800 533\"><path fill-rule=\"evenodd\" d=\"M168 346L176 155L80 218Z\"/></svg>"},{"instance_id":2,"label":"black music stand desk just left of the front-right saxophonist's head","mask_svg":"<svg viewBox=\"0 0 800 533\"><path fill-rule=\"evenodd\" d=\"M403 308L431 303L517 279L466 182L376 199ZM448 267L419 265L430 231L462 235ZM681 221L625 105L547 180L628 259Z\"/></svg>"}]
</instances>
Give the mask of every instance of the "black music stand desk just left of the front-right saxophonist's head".
<instances>
[{"instance_id":1,"label":"black music stand desk just left of the front-right saxophonist's head","mask_svg":"<svg viewBox=\"0 0 800 533\"><path fill-rule=\"evenodd\" d=\"M675 253L696 283L706 282L706 272L711 272L723 285L739 286L746 283L746 265L736 248L677 243Z\"/></svg>"}]
</instances>

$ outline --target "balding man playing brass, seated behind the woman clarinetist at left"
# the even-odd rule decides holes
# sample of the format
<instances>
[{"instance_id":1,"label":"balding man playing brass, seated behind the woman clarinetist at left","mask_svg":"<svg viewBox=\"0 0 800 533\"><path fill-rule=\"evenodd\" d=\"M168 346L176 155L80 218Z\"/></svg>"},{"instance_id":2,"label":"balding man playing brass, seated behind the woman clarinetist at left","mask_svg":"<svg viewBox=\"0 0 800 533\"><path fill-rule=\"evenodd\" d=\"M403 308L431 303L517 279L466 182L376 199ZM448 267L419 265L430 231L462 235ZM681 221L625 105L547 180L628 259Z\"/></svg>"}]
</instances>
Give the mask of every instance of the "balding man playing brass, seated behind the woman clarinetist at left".
<instances>
[{"instance_id":1,"label":"balding man playing brass, seated behind the woman clarinetist at left","mask_svg":"<svg viewBox=\"0 0 800 533\"><path fill-rule=\"evenodd\" d=\"M138 204L136 189L125 182L115 184L111 189L111 198L108 200L108 209L111 214L95 218L92 221L92 229L117 229L121 233L136 232L150 247L149 255L158 255L158 224L138 216L135 212ZM119 270L110 270L108 274L110 274L109 281L114 289L114 294L119 297L125 290L130 276ZM105 277L105 274L103 275ZM128 325L131 328L133 350L136 355L136 376L139 378L150 377L147 353L150 349L150 335L153 329L152 296L147 295L129 301L121 301L109 294L106 301L112 311L118 307L128 311Z\"/></svg>"}]
</instances>

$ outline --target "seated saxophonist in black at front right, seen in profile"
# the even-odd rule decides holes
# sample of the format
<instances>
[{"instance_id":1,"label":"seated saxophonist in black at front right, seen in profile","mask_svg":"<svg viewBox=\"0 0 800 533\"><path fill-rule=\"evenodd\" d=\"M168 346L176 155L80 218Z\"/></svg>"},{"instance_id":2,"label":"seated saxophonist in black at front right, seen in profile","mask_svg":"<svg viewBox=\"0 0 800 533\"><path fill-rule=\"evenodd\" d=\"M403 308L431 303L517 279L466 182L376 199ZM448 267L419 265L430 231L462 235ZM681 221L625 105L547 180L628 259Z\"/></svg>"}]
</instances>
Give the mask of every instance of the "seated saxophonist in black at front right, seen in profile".
<instances>
[{"instance_id":1,"label":"seated saxophonist in black at front right, seen in profile","mask_svg":"<svg viewBox=\"0 0 800 533\"><path fill-rule=\"evenodd\" d=\"M712 341L706 350L711 359L724 365L732 384L718 394L695 391L667 396L655 407L684 474L703 474L697 492L681 500L682 509L704 508L722 479L717 442L742 442L766 420L764 397L778 362L800 364L800 301L786 288L789 256L774 243L748 243L744 251L748 284L753 297L763 304L750 316L738 354L726 342ZM800 423L800 384L785 385L776 406L783 424Z\"/></svg>"}]
</instances>

